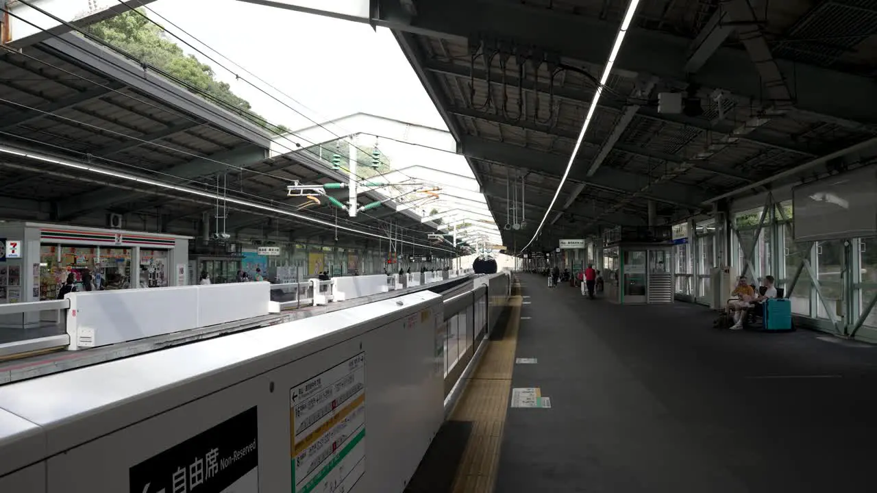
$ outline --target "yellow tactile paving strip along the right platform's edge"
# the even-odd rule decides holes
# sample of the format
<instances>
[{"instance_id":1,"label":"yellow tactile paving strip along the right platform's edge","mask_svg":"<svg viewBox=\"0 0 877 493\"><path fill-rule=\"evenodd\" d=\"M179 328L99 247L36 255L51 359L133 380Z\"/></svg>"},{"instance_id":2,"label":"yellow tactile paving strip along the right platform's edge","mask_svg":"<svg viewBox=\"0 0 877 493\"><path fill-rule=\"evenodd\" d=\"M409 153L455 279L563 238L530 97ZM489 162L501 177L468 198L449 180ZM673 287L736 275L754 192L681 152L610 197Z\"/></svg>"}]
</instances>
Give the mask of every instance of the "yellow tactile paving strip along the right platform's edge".
<instances>
[{"instance_id":1,"label":"yellow tactile paving strip along the right platform's edge","mask_svg":"<svg viewBox=\"0 0 877 493\"><path fill-rule=\"evenodd\" d=\"M512 292L519 295L520 289ZM451 415L453 420L473 424L463 459L457 468L454 493L493 493L505 425L505 408L509 405L511 372L515 368L521 302L520 296L510 297L509 325L503 339L488 342L478 368L467 382L460 402Z\"/></svg>"}]
</instances>

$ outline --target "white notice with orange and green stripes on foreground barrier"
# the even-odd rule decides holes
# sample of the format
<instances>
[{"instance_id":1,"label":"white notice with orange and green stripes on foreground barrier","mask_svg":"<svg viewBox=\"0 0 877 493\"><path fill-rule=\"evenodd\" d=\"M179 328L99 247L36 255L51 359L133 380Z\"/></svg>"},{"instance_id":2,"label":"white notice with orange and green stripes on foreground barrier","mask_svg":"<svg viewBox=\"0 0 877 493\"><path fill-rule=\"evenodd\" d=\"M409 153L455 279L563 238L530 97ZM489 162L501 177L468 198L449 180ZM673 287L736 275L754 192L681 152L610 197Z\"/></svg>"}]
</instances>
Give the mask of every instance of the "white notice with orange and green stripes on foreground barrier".
<instances>
[{"instance_id":1,"label":"white notice with orange and green stripes on foreground barrier","mask_svg":"<svg viewBox=\"0 0 877 493\"><path fill-rule=\"evenodd\" d=\"M292 493L353 489L366 472L366 354L289 389Z\"/></svg>"}]
</instances>

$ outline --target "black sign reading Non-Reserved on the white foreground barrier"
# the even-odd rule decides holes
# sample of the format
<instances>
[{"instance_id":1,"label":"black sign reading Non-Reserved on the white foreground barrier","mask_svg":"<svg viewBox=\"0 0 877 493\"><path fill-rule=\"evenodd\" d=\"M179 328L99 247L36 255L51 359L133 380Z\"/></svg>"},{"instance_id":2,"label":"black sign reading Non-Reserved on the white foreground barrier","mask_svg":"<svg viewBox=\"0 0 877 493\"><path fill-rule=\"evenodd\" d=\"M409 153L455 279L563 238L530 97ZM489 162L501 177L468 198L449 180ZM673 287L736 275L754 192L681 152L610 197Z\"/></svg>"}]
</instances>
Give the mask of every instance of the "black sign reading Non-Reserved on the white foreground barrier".
<instances>
[{"instance_id":1,"label":"black sign reading Non-Reserved on the white foreground barrier","mask_svg":"<svg viewBox=\"0 0 877 493\"><path fill-rule=\"evenodd\" d=\"M241 412L129 470L137 493L259 493L259 412Z\"/></svg>"}]
</instances>

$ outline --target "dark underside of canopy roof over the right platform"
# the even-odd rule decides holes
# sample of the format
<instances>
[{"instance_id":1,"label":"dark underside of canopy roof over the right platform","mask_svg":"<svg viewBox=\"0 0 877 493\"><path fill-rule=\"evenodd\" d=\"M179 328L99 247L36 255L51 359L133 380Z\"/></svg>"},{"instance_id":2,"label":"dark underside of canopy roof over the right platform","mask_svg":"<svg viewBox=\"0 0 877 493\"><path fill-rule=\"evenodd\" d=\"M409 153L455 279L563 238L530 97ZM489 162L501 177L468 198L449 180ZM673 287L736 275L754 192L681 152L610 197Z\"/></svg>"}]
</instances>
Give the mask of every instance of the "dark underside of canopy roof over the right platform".
<instances>
[{"instance_id":1,"label":"dark underside of canopy roof over the right platform","mask_svg":"<svg viewBox=\"0 0 877 493\"><path fill-rule=\"evenodd\" d=\"M638 10L551 211L629 0L375 0L344 11L244 0L393 30L495 218L523 177L530 227L577 238L873 160L877 3L660 0ZM305 5L307 4L307 5ZM334 9L335 11L317 11ZM677 92L684 111L659 108Z\"/></svg>"}]
</instances>

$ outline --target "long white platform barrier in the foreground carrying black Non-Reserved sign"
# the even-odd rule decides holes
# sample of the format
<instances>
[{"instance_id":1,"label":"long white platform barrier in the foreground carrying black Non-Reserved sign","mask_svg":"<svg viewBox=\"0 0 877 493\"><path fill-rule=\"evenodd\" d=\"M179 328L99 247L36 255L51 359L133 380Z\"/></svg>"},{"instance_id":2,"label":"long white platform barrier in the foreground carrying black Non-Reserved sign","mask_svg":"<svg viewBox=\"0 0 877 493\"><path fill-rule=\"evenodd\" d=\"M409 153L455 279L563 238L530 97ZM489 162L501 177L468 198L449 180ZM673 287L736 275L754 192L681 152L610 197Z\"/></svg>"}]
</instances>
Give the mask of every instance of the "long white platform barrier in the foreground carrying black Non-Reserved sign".
<instances>
[{"instance_id":1,"label":"long white platform barrier in the foreground carrying black Non-Reserved sign","mask_svg":"<svg viewBox=\"0 0 877 493\"><path fill-rule=\"evenodd\" d=\"M485 278L0 386L0 491L402 492L506 304Z\"/></svg>"}]
</instances>

